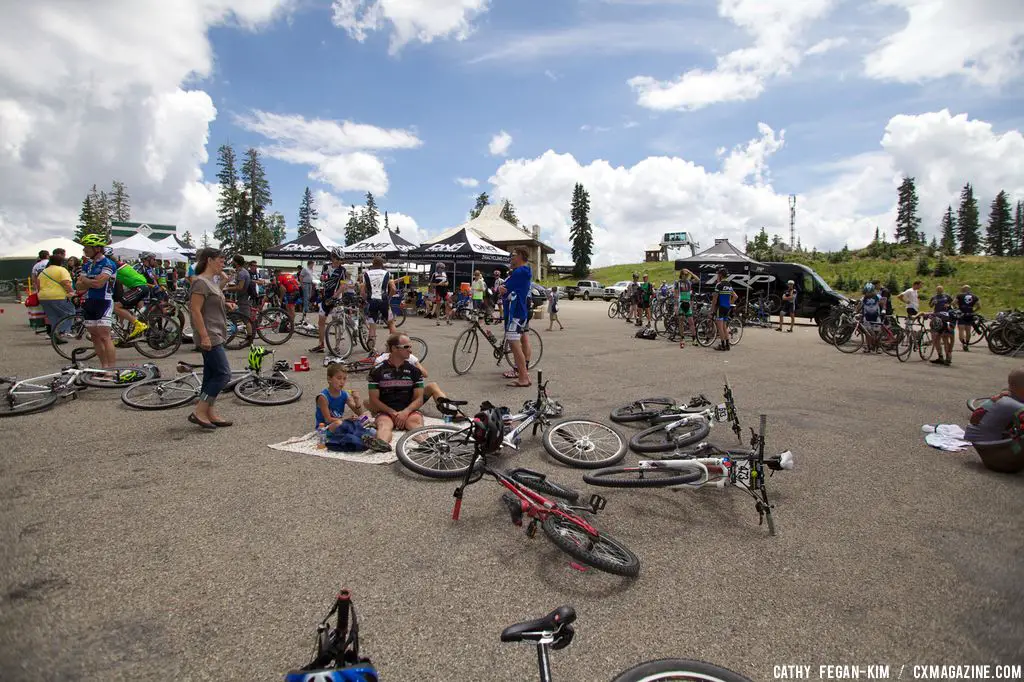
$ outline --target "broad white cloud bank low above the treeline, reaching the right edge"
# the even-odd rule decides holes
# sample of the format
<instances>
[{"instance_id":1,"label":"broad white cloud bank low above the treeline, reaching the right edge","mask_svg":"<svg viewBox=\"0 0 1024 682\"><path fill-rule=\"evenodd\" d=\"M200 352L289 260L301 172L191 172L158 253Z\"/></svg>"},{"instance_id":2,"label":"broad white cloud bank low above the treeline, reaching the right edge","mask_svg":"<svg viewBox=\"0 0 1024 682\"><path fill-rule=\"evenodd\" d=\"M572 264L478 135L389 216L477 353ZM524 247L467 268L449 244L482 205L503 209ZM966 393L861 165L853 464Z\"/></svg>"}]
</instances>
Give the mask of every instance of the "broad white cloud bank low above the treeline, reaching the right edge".
<instances>
[{"instance_id":1,"label":"broad white cloud bank low above the treeline, reaching the right edge","mask_svg":"<svg viewBox=\"0 0 1024 682\"><path fill-rule=\"evenodd\" d=\"M536 159L506 161L489 179L498 196L542 226L542 238L568 253L569 198L577 182L591 197L595 263L638 262L663 232L689 229L705 246L715 238L741 245L764 225L786 236L788 196L771 184L768 162L782 148L784 133L759 125L759 136L719 151L721 168L676 157L649 157L632 167L548 151ZM975 186L983 209L1006 189L1024 197L1024 136L997 133L983 121L946 111L896 116L882 136L882 150L814 169L825 178L798 197L797 227L806 247L859 247L876 225L892 233L896 187L915 176L923 229L937 231L946 204L955 207L965 182Z\"/></svg>"}]
</instances>

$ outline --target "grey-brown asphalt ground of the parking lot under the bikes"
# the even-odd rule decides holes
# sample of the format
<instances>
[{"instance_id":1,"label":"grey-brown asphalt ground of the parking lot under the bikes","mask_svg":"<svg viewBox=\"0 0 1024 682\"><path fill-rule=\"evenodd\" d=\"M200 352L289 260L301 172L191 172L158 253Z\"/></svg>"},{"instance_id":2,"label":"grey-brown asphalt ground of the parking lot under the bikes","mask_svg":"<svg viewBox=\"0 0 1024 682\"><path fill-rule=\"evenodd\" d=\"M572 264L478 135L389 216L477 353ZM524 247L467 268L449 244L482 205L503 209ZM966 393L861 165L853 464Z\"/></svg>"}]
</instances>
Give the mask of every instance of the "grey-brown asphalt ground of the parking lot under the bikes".
<instances>
[{"instance_id":1,"label":"grey-brown asphalt ground of the parking lot under the bikes","mask_svg":"<svg viewBox=\"0 0 1024 682\"><path fill-rule=\"evenodd\" d=\"M633 338L602 302L562 308L567 330L541 332L541 369L566 415L606 421L650 395L717 400L727 374L744 426L768 416L769 450L797 460L769 480L776 537L737 489L603 489L598 525L640 556L641 574L581 572L543 532L509 523L493 481L468 491L453 522L452 482L268 449L311 428L317 366L293 375L297 403L222 399L234 426L213 432L186 408L137 412L89 389L0 423L0 678L281 679L306 662L341 587L384 680L536 679L534 650L498 635L563 603L579 612L575 640L553 653L566 682L663 656L755 680L779 665L816 677L819 665L888 664L895 678L902 665L1024 660L1024 476L921 433L964 423L965 399L999 390L1019 359L979 347L950 368L900 365L841 354L813 328L748 330L729 353L680 350ZM513 408L532 395L482 356L456 376L461 329L404 327L427 339L425 364L450 395ZM2 375L63 365L19 306L0 314L0 338ZM296 337L278 357L310 345ZM230 355L241 366L244 352ZM712 439L735 443L724 429ZM598 492L539 436L503 463Z\"/></svg>"}]
</instances>

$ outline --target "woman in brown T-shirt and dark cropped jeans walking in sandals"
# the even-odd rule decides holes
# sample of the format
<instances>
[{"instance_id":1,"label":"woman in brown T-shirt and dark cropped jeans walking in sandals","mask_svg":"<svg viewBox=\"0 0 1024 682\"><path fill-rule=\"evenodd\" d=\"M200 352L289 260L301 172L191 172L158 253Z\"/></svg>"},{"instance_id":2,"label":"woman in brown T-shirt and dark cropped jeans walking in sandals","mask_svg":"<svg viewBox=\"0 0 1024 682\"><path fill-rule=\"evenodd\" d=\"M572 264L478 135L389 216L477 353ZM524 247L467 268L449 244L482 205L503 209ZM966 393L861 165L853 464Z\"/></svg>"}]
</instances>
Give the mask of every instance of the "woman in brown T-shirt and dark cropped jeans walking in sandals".
<instances>
[{"instance_id":1,"label":"woman in brown T-shirt and dark cropped jeans walking in sandals","mask_svg":"<svg viewBox=\"0 0 1024 682\"><path fill-rule=\"evenodd\" d=\"M224 352L227 336L227 310L224 292L214 282L224 270L224 254L220 249L200 249L196 254L196 276L191 283L189 308L196 346L203 353L203 386L196 412L188 421L204 429L230 426L213 410L220 391L231 380L231 367Z\"/></svg>"}]
</instances>

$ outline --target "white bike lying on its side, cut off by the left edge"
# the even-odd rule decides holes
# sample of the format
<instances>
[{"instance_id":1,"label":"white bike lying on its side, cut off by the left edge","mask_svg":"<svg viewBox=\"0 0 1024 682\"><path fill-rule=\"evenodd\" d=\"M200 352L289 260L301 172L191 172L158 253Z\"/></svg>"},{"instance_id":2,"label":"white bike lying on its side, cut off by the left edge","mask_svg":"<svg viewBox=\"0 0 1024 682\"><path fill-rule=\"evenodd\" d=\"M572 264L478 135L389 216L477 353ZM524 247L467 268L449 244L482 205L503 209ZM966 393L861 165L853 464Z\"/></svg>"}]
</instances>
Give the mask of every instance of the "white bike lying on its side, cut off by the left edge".
<instances>
[{"instance_id":1,"label":"white bike lying on its side, cut off by the left edge","mask_svg":"<svg viewBox=\"0 0 1024 682\"><path fill-rule=\"evenodd\" d=\"M23 379L0 377L0 417L14 417L42 412L53 407L58 399L75 399L87 386L95 388L123 388L127 384L160 376L157 366L89 368L80 365L82 353L73 353L72 365L59 372Z\"/></svg>"}]
</instances>

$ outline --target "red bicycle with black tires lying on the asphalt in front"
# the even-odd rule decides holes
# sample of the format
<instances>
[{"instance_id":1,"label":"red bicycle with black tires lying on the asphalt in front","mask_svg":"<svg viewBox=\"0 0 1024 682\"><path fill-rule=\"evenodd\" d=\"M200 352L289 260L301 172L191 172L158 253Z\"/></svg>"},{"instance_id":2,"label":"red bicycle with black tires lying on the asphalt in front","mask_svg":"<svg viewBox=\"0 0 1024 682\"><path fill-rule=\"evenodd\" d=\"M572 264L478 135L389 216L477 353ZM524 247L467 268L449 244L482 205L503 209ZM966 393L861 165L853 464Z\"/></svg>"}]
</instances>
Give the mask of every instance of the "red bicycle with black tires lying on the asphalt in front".
<instances>
[{"instance_id":1,"label":"red bicycle with black tires lying on the asphalt in front","mask_svg":"<svg viewBox=\"0 0 1024 682\"><path fill-rule=\"evenodd\" d=\"M484 414L477 415L473 419L474 428L497 429L499 434L497 440L500 442L500 422L489 425L485 423L486 412L495 409L488 402L484 402L481 410ZM500 417L498 419L500 420ZM488 475L507 491L502 495L502 502L509 510L512 523L522 527L524 519L528 519L526 537L536 538L537 526L540 525L555 547L578 561L615 576L636 578L640 573L640 559L637 555L614 538L598 530L584 516L597 514L604 509L606 505L604 498L593 495L588 506L572 506L572 503L579 500L580 494L548 480L547 476L539 471L513 469L504 472L493 469L486 462L486 455L490 454L486 452L488 442L493 444L495 438L485 436L476 438L466 475L462 484L455 491L453 520L459 520L466 487ZM497 452L498 447L493 452ZM575 563L572 566L584 569Z\"/></svg>"}]
</instances>

